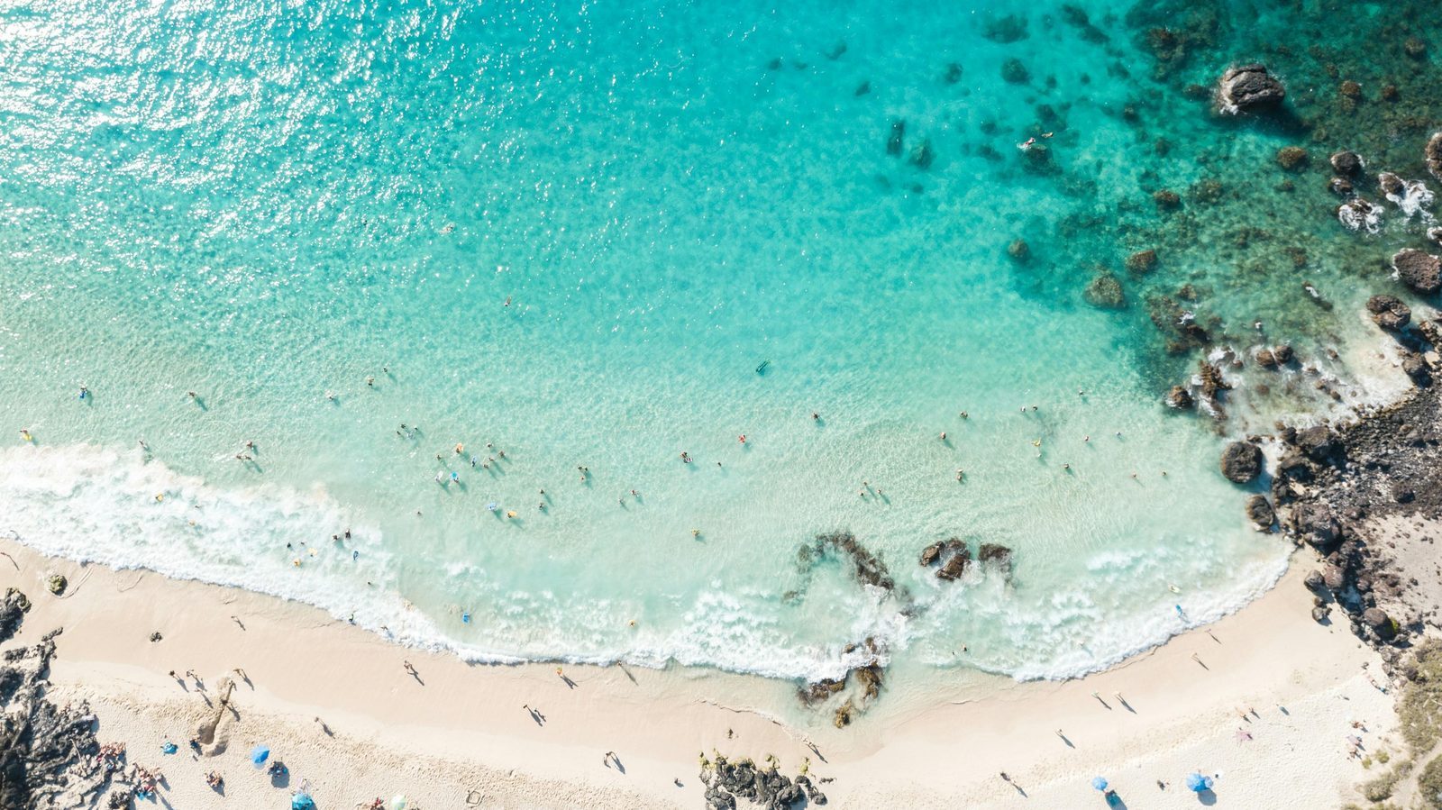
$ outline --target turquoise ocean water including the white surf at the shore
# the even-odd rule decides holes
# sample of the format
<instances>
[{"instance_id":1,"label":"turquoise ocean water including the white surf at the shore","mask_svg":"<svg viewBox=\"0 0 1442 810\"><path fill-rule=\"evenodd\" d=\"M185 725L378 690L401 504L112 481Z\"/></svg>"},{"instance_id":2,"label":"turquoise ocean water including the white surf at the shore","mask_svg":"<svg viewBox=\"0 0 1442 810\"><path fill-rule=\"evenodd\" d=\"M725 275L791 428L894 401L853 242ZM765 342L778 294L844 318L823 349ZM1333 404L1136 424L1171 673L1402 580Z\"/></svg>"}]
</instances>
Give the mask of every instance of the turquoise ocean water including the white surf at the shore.
<instances>
[{"instance_id":1,"label":"turquoise ocean water including the white surf at the shore","mask_svg":"<svg viewBox=\"0 0 1442 810\"><path fill-rule=\"evenodd\" d=\"M1171 412L1204 350L1144 301L1193 284L1218 346L1380 396L1350 257L1419 221L1279 190L1296 133L1213 120L1107 9L6 3L0 529L477 660L796 679L872 637L1064 677L1234 610L1288 543L1221 444L1340 406L1293 369ZM1210 213L1152 203L1204 180ZM832 530L906 594L800 565ZM1011 577L937 581L949 536Z\"/></svg>"}]
</instances>

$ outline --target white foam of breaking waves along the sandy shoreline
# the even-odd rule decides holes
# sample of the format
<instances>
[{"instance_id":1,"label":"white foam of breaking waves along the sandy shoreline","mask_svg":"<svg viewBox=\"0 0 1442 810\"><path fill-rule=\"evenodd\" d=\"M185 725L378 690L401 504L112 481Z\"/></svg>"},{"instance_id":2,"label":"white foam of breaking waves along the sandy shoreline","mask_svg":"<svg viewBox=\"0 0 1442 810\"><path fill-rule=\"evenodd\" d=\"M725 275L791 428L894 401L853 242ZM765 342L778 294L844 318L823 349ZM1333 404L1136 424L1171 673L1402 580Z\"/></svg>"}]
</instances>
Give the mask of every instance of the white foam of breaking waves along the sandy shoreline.
<instances>
[{"instance_id":1,"label":"white foam of breaking waves along the sandy shoreline","mask_svg":"<svg viewBox=\"0 0 1442 810\"><path fill-rule=\"evenodd\" d=\"M160 496L160 497L157 497ZM508 592L497 600L505 621L534 628L535 654L516 646L487 650L446 634L441 617L415 610L394 589L398 562L385 551L378 529L355 520L323 490L300 491L278 486L222 487L146 461L140 453L94 445L16 447L0 450L0 529L49 555L98 562L114 568L146 568L180 579L241 587L303 601L394 641L444 649L472 662L510 663L525 659L606 664L616 660L650 667L672 662L718 667L767 677L839 677L870 663L872 653L844 651L848 641L875 638L881 662L906 650L929 621L946 621L949 610L992 617L1012 638L1021 657L991 669L1019 679L1063 679L1105 669L1129 654L1165 641L1195 623L1236 610L1265 591L1282 572L1252 566L1236 572L1233 589L1207 589L1180 597L1185 621L1168 611L1136 618L1116 605L1097 604L1086 588L1063 588L1040 604L1018 604L1015 591L995 572L970 572L963 582L930 587L921 594L919 615L894 598L849 591L836 615L848 617L835 638L808 640L789 627L769 591L704 589L691 597L681 621L642 627L626 649L609 649L598 628L614 626L617 604L597 601L583 611L555 592ZM330 536L352 530L349 543ZM286 543L293 548L287 549ZM359 552L352 559L352 552ZM314 553L311 553L314 552ZM300 561L300 565L294 565ZM1084 565L1099 581L1118 585L1159 577L1165 561L1139 551L1097 552ZM446 566L448 578L474 579L483 569L470 564ZM375 587L366 582L375 582ZM934 582L930 582L934 585ZM1094 585L1094 582L1093 582ZM920 588L920 582L916 584ZM1123 588L1125 589L1125 588ZM562 621L564 620L564 621ZM1037 640L1053 641L1053 654L1035 656ZM1086 638L1077 646L1077 638ZM495 641L506 646L505 640ZM937 662L943 663L943 662Z\"/></svg>"}]
</instances>

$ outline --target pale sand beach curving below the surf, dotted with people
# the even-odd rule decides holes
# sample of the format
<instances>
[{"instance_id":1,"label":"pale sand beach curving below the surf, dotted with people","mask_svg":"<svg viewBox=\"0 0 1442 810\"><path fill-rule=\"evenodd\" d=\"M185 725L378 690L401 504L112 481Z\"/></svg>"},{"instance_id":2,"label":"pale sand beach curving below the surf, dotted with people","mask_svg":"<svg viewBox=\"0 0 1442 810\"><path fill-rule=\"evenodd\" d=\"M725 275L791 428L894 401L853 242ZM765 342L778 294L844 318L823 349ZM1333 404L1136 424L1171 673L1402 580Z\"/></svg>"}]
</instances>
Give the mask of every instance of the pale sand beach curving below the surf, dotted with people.
<instances>
[{"instance_id":1,"label":"pale sand beach curving below the surf, dotted with people","mask_svg":"<svg viewBox=\"0 0 1442 810\"><path fill-rule=\"evenodd\" d=\"M614 666L565 667L568 686L554 666L472 666L301 604L0 549L19 566L0 562L0 585L36 605L10 646L63 627L50 699L88 702L98 738L159 767L160 798L185 809L288 806L287 785L303 783L323 809L397 794L433 810L702 807L696 755L712 749L774 754L792 774L809 757L813 778L833 780L818 785L832 807L1100 807L1094 775L1131 807L1194 807L1182 785L1194 770L1216 777L1201 800L1217 807L1335 807L1368 775L1345 736L1386 749L1396 722L1370 682L1368 670L1384 683L1377 654L1312 621L1309 552L1240 613L1109 672L1064 683L959 676L955 693L800 729L773 719L795 700L790 685ZM69 578L62 598L46 592L49 572ZM234 712L216 703L224 677L236 680ZM216 715L224 751L196 757L186 742ZM162 754L166 741L179 752ZM251 767L257 744L287 780ZM203 781L212 770L224 794Z\"/></svg>"}]
</instances>

